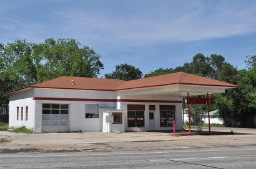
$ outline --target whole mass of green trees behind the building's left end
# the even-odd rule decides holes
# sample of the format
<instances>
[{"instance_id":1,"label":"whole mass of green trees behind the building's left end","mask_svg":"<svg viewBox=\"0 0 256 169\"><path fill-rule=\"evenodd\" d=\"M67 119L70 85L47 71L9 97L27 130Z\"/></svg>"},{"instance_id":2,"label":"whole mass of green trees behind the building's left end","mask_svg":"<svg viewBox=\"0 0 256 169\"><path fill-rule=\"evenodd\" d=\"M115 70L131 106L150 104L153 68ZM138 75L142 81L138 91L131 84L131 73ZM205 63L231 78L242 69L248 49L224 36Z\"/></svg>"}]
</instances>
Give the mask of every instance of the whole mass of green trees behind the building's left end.
<instances>
[{"instance_id":1,"label":"whole mass of green trees behind the building's left end","mask_svg":"<svg viewBox=\"0 0 256 169\"><path fill-rule=\"evenodd\" d=\"M44 43L16 40L0 43L0 106L4 93L59 76L96 78L103 69L100 56L75 39L46 39Z\"/></svg>"}]
</instances>

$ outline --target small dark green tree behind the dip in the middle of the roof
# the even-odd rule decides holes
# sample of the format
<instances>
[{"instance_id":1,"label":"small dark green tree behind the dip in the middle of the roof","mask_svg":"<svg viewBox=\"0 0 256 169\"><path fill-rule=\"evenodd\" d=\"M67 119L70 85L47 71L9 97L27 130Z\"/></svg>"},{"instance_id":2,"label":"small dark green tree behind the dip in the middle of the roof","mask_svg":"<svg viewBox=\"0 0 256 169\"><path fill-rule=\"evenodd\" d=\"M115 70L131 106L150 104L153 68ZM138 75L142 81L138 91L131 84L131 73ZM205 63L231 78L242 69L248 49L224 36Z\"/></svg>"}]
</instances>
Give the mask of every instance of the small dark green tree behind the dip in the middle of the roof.
<instances>
[{"instance_id":1,"label":"small dark green tree behind the dip in the middle of the roof","mask_svg":"<svg viewBox=\"0 0 256 169\"><path fill-rule=\"evenodd\" d=\"M126 63L116 65L116 70L104 75L106 79L136 80L142 78L142 71Z\"/></svg>"}]
</instances>

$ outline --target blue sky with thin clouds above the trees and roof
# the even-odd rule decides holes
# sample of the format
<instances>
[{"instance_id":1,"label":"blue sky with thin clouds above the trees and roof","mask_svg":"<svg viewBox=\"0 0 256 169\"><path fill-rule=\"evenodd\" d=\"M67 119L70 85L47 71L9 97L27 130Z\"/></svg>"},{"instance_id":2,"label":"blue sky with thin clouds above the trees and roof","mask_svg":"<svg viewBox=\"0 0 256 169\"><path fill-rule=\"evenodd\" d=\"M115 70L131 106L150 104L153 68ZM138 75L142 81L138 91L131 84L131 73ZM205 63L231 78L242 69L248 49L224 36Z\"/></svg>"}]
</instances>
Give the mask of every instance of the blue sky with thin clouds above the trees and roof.
<instances>
[{"instance_id":1,"label":"blue sky with thin clouds above the trees and roof","mask_svg":"<svg viewBox=\"0 0 256 169\"><path fill-rule=\"evenodd\" d=\"M222 55L245 68L256 55L256 1L1 1L0 42L72 38L101 55L105 73L127 63L144 74Z\"/></svg>"}]
</instances>

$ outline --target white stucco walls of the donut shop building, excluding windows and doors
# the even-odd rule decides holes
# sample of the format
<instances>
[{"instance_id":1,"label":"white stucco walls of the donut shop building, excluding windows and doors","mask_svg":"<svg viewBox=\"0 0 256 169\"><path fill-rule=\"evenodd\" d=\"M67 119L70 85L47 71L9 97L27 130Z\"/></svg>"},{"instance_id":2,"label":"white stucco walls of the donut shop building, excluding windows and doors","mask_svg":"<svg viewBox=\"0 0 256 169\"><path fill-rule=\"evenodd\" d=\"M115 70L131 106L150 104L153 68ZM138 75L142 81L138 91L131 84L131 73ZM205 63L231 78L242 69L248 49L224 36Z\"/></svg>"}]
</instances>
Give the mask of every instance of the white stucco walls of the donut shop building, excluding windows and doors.
<instances>
[{"instance_id":1,"label":"white stucco walls of the donut shop building, excluding windows and doors","mask_svg":"<svg viewBox=\"0 0 256 169\"><path fill-rule=\"evenodd\" d=\"M155 96L145 94L125 94L115 91L85 91L74 89L27 89L18 93L11 94L10 99L10 116L9 126L26 126L35 129L36 132L42 131L42 104L69 104L69 131L83 132L102 132L103 130L103 112L106 111L101 107L116 107L127 111L127 104L144 104L145 127L135 128L127 127L127 112L123 112L123 125L115 125L116 129L122 130L150 130L149 124L149 105L155 105L155 130L172 130L172 127L160 127L159 105L175 105L175 122L176 130L181 130L182 126L182 104L181 103L143 103L143 102L108 102L108 101L68 101L68 100L33 100L33 97L42 98L81 98L81 99L145 99L145 100L166 100L181 101L180 97ZM99 118L86 119L86 104L99 104ZM29 106L29 120L16 121L16 106L24 106L24 119L26 117L26 105ZM20 110L19 110L20 111ZM20 114L20 112L19 112ZM113 130L115 130L113 128Z\"/></svg>"}]
</instances>

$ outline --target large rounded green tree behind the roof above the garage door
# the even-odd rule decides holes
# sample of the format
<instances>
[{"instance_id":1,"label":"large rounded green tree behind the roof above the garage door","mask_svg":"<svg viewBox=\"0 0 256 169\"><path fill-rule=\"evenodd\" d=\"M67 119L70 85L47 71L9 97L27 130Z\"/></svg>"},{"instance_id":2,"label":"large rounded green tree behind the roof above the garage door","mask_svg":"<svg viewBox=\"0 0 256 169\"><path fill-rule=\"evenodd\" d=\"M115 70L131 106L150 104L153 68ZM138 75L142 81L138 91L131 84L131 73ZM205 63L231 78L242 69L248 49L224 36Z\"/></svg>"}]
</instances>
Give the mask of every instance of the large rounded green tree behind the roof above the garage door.
<instances>
[{"instance_id":1,"label":"large rounded green tree behind the roof above the garage door","mask_svg":"<svg viewBox=\"0 0 256 169\"><path fill-rule=\"evenodd\" d=\"M99 54L75 39L46 39L33 50L38 81L59 76L96 78L103 69Z\"/></svg>"}]
</instances>

